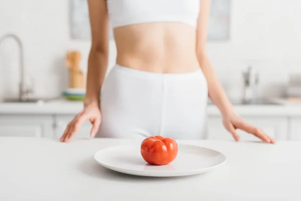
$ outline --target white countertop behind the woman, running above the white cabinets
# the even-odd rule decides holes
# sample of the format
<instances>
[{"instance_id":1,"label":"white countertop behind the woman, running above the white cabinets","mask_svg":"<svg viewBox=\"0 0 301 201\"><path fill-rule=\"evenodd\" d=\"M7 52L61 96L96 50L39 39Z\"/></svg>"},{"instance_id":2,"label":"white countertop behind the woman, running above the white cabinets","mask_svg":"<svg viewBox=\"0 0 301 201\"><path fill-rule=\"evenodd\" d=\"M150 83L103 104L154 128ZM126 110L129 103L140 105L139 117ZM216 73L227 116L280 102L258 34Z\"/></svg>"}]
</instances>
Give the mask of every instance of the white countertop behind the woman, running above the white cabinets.
<instances>
[{"instance_id":1,"label":"white countertop behind the woman, running above the white cabinets","mask_svg":"<svg viewBox=\"0 0 301 201\"><path fill-rule=\"evenodd\" d=\"M52 100L46 103L0 103L1 114L75 115L83 109L82 102ZM234 105L239 115L247 116L301 116L300 105ZM220 116L215 105L207 107L209 116Z\"/></svg>"}]
</instances>

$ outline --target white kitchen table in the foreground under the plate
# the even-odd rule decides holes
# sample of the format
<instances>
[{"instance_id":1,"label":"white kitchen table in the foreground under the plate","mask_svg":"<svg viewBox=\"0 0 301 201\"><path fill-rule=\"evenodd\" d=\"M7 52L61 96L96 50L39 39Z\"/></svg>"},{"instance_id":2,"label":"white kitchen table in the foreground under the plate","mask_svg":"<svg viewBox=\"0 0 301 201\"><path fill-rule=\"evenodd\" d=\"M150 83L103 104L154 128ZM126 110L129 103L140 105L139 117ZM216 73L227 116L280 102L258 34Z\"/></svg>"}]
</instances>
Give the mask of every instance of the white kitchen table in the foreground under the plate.
<instances>
[{"instance_id":1,"label":"white kitchen table in the foreground under the plate","mask_svg":"<svg viewBox=\"0 0 301 201\"><path fill-rule=\"evenodd\" d=\"M227 162L210 172L138 177L97 164L121 139L0 138L0 200L301 200L301 142L178 141L215 149Z\"/></svg>"}]
</instances>

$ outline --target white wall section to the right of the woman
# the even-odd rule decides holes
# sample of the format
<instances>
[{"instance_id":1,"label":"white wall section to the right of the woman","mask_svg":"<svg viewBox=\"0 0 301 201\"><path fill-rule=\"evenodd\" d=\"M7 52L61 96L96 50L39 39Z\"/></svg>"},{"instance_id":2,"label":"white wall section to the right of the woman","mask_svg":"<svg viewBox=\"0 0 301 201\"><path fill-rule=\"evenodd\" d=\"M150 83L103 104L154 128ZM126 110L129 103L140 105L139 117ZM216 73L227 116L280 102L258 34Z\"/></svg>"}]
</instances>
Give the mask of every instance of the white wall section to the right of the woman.
<instances>
[{"instance_id":1,"label":"white wall section to the right of the woman","mask_svg":"<svg viewBox=\"0 0 301 201\"><path fill-rule=\"evenodd\" d=\"M289 73L301 72L301 1L232 0L231 40L208 44L220 79L238 96L241 71L260 72L261 95L281 95Z\"/></svg>"}]
</instances>

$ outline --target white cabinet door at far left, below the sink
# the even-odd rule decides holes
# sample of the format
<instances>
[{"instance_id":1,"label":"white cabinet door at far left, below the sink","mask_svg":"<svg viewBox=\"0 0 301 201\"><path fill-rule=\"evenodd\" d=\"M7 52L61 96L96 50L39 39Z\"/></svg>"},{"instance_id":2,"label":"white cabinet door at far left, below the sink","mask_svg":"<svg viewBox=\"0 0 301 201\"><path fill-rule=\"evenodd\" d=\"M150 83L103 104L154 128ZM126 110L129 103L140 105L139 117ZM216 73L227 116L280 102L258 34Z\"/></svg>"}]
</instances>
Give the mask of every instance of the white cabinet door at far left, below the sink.
<instances>
[{"instance_id":1,"label":"white cabinet door at far left, below the sink","mask_svg":"<svg viewBox=\"0 0 301 201\"><path fill-rule=\"evenodd\" d=\"M0 115L0 136L52 137L52 116Z\"/></svg>"}]
</instances>

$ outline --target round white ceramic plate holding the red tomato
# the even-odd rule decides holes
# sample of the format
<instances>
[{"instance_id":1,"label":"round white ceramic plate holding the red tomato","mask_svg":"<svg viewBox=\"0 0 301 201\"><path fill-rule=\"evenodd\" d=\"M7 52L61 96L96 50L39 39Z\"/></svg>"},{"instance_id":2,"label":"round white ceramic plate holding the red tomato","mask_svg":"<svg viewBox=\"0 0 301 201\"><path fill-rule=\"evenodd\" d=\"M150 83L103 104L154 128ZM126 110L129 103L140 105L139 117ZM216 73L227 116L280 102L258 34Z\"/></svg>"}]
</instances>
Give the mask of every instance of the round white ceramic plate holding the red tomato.
<instances>
[{"instance_id":1,"label":"round white ceramic plate holding the red tomato","mask_svg":"<svg viewBox=\"0 0 301 201\"><path fill-rule=\"evenodd\" d=\"M140 154L140 146L120 145L99 150L94 159L102 166L126 174L139 176L186 176L199 174L223 164L222 153L193 145L178 144L177 158L167 165L150 165Z\"/></svg>"}]
</instances>

